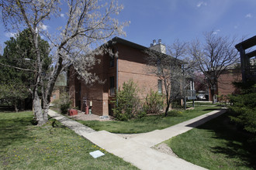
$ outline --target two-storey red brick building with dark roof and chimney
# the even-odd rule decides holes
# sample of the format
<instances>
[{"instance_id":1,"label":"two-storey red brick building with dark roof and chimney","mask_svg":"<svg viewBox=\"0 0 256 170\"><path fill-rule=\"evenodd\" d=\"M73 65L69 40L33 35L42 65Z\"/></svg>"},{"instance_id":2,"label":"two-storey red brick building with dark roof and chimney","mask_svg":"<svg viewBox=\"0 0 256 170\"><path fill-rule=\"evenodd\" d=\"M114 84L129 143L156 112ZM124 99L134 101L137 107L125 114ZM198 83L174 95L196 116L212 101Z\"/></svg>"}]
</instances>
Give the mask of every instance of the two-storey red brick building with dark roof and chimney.
<instances>
[{"instance_id":1,"label":"two-storey red brick building with dark roof and chimney","mask_svg":"<svg viewBox=\"0 0 256 170\"><path fill-rule=\"evenodd\" d=\"M113 43L114 42L114 43ZM118 53L118 57L109 55L96 56L101 62L94 67L92 72L96 73L101 80L106 80L104 84L95 83L91 86L85 85L75 76L74 70L70 70L69 92L72 100L72 106L78 107L79 110L85 110L84 99L87 104L92 104L92 113L98 115L111 115L111 100L115 96L116 88L122 87L123 82L130 79L137 83L142 90L141 98L146 97L150 89L161 92L163 85L157 76L149 73L146 66L145 46L140 46L134 42L115 37L109 42L109 48L113 53ZM165 46L154 40L150 44L150 49L159 53L165 53Z\"/></svg>"}]
</instances>

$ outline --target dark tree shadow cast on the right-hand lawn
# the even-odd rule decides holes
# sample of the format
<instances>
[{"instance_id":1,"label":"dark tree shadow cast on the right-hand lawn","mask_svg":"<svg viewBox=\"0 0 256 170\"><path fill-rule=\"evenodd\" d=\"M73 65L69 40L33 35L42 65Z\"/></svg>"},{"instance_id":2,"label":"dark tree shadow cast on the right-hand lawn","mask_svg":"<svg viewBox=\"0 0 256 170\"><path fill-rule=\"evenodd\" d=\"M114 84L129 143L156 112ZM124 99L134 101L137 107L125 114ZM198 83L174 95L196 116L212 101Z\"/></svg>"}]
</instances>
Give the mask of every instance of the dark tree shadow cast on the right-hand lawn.
<instances>
[{"instance_id":1,"label":"dark tree shadow cast on the right-hand lawn","mask_svg":"<svg viewBox=\"0 0 256 170\"><path fill-rule=\"evenodd\" d=\"M228 113L223 114L198 128L214 131L216 136L213 138L223 140L221 146L211 147L213 153L233 159L237 167L247 166L255 169L256 147L248 142L252 135L237 128L228 116Z\"/></svg>"}]
</instances>

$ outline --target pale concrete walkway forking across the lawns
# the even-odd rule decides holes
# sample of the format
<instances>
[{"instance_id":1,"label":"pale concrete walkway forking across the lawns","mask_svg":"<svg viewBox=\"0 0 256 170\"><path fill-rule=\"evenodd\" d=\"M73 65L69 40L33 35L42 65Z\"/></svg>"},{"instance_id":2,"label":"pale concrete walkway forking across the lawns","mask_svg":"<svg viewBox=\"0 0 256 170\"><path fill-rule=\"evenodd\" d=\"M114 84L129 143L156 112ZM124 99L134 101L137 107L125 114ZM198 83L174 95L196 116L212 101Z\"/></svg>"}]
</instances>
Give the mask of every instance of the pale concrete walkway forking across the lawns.
<instances>
[{"instance_id":1,"label":"pale concrete walkway forking across the lawns","mask_svg":"<svg viewBox=\"0 0 256 170\"><path fill-rule=\"evenodd\" d=\"M189 131L192 128L204 124L225 113L226 110L213 110L208 114L203 114L189 121L176 124L163 130L150 131L145 134L137 135L134 138L122 138L117 134L108 131L94 131L83 124L68 119L67 117L49 110L50 117L71 128L77 134L92 141L95 145L104 148L109 153L123 158L126 162L137 166L140 169L205 169L198 165L186 162L182 158L164 154L153 148L154 145L166 141L178 134Z\"/></svg>"}]
</instances>

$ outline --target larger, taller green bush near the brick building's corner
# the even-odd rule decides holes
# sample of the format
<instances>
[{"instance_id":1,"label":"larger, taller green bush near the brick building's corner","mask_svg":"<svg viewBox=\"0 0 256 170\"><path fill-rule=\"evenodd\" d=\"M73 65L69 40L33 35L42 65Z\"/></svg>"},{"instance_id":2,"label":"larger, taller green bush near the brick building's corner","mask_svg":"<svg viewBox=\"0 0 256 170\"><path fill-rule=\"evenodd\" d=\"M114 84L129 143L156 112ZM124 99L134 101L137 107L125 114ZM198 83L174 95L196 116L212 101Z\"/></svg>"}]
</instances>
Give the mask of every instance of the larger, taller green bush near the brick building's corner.
<instances>
[{"instance_id":1,"label":"larger, taller green bush near the brick building's corner","mask_svg":"<svg viewBox=\"0 0 256 170\"><path fill-rule=\"evenodd\" d=\"M123 89L116 93L113 113L117 121L128 121L135 117L140 111L140 98L137 93L139 89L133 80L123 83Z\"/></svg>"}]
</instances>

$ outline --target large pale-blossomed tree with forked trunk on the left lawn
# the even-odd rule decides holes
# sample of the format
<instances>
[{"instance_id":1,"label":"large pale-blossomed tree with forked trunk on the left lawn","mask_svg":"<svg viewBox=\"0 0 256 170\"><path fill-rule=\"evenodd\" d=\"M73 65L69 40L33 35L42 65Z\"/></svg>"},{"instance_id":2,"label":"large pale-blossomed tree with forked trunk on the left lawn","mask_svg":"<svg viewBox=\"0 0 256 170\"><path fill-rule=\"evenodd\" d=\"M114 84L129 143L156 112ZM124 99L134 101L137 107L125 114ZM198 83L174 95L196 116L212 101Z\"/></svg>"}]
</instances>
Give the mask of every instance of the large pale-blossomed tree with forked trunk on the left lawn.
<instances>
[{"instance_id":1,"label":"large pale-blossomed tree with forked trunk on the left lawn","mask_svg":"<svg viewBox=\"0 0 256 170\"><path fill-rule=\"evenodd\" d=\"M73 65L85 83L99 81L99 77L90 73L95 63L95 55L103 53L102 49L92 50L92 45L106 42L110 36L124 34L123 26L112 18L123 9L115 0L109 3L97 0L66 0L65 23L50 34L44 30L45 22L50 17L61 17L61 2L57 0L1 0L2 22L5 27L19 31L28 28L36 53L36 78L33 88L34 117L38 125L48 120L47 113L50 94L54 89L57 76L68 66ZM13 27L13 28L12 28ZM39 35L43 35L51 43L50 54L53 56L49 73L42 73L43 60L38 47ZM45 83L47 82L47 83ZM40 104L39 85L42 88L43 108Z\"/></svg>"}]
</instances>

